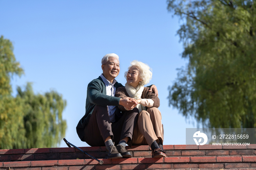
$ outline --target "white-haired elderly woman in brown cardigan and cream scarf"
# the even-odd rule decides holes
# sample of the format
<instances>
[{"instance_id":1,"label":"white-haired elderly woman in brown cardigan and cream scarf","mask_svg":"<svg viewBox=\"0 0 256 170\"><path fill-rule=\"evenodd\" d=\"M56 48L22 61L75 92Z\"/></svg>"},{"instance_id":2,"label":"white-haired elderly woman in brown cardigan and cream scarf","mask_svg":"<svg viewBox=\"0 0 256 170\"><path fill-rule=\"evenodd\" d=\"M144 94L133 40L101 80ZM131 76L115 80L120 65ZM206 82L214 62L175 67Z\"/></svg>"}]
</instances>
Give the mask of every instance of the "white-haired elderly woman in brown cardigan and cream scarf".
<instances>
[{"instance_id":1,"label":"white-haired elderly woman in brown cardigan and cream scarf","mask_svg":"<svg viewBox=\"0 0 256 170\"><path fill-rule=\"evenodd\" d=\"M152 78L151 68L142 62L132 61L125 72L125 87L116 90L116 97L131 97L137 100L139 109L138 122L133 132L133 145L149 145L153 158L166 157L163 150L162 116L158 110L159 98L149 88L144 87ZM129 109L119 106L122 112Z\"/></svg>"}]
</instances>

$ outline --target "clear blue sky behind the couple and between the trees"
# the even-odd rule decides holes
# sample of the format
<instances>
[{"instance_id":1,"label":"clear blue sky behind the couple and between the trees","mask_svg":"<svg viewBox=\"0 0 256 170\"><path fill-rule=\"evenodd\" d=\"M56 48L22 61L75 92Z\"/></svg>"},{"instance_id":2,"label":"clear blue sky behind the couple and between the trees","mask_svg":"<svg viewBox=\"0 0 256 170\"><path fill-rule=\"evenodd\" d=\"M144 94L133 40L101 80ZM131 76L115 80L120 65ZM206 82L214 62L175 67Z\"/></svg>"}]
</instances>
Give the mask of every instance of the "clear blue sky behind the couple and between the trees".
<instances>
[{"instance_id":1,"label":"clear blue sky behind the couple and between the trees","mask_svg":"<svg viewBox=\"0 0 256 170\"><path fill-rule=\"evenodd\" d=\"M76 146L88 146L76 134L76 125L85 113L87 84L101 73L101 59L116 53L120 74L133 60L153 69L149 84L158 88L164 126L164 144L185 144L189 123L177 109L168 106L167 88L185 66L182 43L176 35L181 22L167 11L166 0L129 1L18 1L0 0L0 35L14 45L16 60L25 70L11 83L33 82L35 93L56 90L67 100L63 119L65 138ZM60 147L67 147L61 142Z\"/></svg>"}]
</instances>

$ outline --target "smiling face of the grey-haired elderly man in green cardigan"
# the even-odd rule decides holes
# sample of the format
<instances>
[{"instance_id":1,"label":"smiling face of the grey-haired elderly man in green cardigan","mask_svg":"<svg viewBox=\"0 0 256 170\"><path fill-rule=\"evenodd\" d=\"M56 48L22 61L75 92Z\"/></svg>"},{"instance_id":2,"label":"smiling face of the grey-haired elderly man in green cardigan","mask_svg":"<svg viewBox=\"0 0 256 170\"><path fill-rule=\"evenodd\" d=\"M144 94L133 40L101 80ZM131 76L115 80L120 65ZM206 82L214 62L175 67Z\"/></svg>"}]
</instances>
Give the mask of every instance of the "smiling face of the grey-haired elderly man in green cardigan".
<instances>
[{"instance_id":1,"label":"smiling face of the grey-haired elderly man in green cardigan","mask_svg":"<svg viewBox=\"0 0 256 170\"><path fill-rule=\"evenodd\" d=\"M101 66L103 76L110 82L116 78L120 72L119 61L114 57L109 57L108 62Z\"/></svg>"}]
</instances>

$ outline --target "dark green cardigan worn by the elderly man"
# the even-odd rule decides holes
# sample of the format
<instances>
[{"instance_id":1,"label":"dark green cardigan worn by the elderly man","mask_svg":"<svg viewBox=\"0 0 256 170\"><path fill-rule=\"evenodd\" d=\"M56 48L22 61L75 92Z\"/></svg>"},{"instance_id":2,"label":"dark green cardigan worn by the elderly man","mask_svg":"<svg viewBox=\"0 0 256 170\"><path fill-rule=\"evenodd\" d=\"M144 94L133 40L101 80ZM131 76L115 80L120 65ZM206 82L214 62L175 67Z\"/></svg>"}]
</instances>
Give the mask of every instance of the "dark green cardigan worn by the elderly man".
<instances>
[{"instance_id":1,"label":"dark green cardigan worn by the elderly man","mask_svg":"<svg viewBox=\"0 0 256 170\"><path fill-rule=\"evenodd\" d=\"M118 87L123 87L121 83L116 82L114 84L116 89ZM113 97L106 95L106 86L99 76L98 78L92 80L87 86L87 97L85 106L85 115L79 120L76 126L76 132L79 138L83 141L84 127L86 127L95 105L100 106L119 106L119 97Z\"/></svg>"}]
</instances>

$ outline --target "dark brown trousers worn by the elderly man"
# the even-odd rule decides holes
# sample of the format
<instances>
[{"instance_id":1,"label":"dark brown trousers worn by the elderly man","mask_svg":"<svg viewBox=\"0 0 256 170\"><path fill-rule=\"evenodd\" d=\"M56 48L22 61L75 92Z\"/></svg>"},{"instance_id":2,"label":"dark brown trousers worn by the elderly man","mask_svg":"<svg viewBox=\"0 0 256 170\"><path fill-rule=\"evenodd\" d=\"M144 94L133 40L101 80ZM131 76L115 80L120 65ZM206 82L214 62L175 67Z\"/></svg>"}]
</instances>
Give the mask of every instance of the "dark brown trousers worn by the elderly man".
<instances>
[{"instance_id":1,"label":"dark brown trousers worn by the elderly man","mask_svg":"<svg viewBox=\"0 0 256 170\"><path fill-rule=\"evenodd\" d=\"M115 122L110 122L108 107L96 105L90 116L89 122L84 128L83 140L90 146L105 146L105 139L111 136L113 142L118 144L121 139L128 137L127 144L131 147L133 130L138 119L139 110L134 108L131 111L121 113L116 108ZM118 119L119 118L119 119Z\"/></svg>"}]
</instances>

